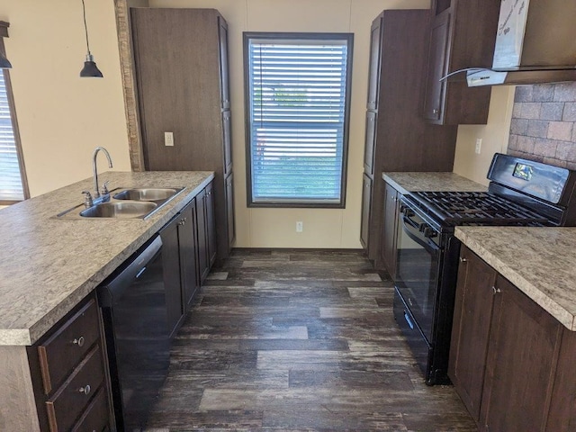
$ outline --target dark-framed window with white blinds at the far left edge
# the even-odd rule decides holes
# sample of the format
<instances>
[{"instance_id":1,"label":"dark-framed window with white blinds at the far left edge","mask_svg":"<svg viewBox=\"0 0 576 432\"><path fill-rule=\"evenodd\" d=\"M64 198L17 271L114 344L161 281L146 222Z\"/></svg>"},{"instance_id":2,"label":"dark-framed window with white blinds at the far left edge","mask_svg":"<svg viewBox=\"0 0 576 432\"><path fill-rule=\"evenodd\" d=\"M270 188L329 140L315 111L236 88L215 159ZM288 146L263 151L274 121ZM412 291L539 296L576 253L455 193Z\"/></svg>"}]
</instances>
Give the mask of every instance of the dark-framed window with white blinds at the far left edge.
<instances>
[{"instance_id":1,"label":"dark-framed window with white blinds at the far left edge","mask_svg":"<svg viewBox=\"0 0 576 432\"><path fill-rule=\"evenodd\" d=\"M0 52L3 54L2 37L8 35L7 30L7 23L0 22ZM28 197L16 124L10 76L7 69L0 69L0 205Z\"/></svg>"}]
</instances>

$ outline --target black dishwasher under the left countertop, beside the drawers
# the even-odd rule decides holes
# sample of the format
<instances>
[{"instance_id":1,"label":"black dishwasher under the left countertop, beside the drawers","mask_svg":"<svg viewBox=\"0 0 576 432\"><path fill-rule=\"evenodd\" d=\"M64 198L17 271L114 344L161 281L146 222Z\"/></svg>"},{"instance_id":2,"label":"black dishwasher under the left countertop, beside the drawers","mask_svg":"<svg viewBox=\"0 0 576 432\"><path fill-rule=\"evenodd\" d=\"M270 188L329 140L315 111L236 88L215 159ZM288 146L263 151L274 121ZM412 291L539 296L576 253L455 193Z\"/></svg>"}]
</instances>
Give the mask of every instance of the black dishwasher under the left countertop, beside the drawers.
<instances>
[{"instance_id":1,"label":"black dishwasher under the left countertop, beside the drawers","mask_svg":"<svg viewBox=\"0 0 576 432\"><path fill-rule=\"evenodd\" d=\"M148 241L98 288L119 431L141 430L166 379L170 339L162 240Z\"/></svg>"}]
</instances>

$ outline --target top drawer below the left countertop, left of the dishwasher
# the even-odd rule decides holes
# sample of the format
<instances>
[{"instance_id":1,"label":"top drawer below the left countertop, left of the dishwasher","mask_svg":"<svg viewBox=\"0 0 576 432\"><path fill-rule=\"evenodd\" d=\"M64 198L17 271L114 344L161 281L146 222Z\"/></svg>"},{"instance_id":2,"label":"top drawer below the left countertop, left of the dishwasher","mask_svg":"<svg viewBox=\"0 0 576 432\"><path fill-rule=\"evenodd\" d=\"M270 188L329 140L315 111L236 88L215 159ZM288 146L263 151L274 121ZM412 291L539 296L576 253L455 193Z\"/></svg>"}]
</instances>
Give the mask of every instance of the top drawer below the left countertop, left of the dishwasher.
<instances>
[{"instance_id":1,"label":"top drawer below the left countertop, left of the dishwasher","mask_svg":"<svg viewBox=\"0 0 576 432\"><path fill-rule=\"evenodd\" d=\"M38 346L44 392L58 388L99 338L98 308L91 299Z\"/></svg>"}]
</instances>

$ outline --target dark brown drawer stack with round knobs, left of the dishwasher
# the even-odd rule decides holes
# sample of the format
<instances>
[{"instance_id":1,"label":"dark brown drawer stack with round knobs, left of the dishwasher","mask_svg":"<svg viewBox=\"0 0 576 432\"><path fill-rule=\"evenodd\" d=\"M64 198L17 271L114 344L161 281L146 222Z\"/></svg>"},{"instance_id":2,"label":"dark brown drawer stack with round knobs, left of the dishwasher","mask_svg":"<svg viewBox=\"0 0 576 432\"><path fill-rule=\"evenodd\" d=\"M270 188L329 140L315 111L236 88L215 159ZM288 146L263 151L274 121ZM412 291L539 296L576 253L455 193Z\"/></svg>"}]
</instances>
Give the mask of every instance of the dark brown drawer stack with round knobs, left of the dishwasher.
<instances>
[{"instance_id":1,"label":"dark brown drawer stack with round knobs, left of the dishwasher","mask_svg":"<svg viewBox=\"0 0 576 432\"><path fill-rule=\"evenodd\" d=\"M95 295L90 294L27 348L40 430L111 428L102 335Z\"/></svg>"}]
</instances>

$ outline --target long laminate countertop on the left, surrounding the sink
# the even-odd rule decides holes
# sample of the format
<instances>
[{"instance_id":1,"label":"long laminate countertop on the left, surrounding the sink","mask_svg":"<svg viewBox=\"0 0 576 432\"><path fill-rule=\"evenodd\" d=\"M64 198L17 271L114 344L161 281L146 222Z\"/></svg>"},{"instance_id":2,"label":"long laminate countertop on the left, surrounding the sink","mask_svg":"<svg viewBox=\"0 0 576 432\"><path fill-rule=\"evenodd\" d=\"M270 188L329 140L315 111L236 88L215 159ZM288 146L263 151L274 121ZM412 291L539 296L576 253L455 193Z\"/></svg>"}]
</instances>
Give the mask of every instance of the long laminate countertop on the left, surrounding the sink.
<instances>
[{"instance_id":1,"label":"long laminate countertop on the left, surrounding the sink","mask_svg":"<svg viewBox=\"0 0 576 432\"><path fill-rule=\"evenodd\" d=\"M62 219L92 177L0 210L0 346L32 345L184 208L212 172L107 172L118 187L183 187L146 220Z\"/></svg>"}]
</instances>

